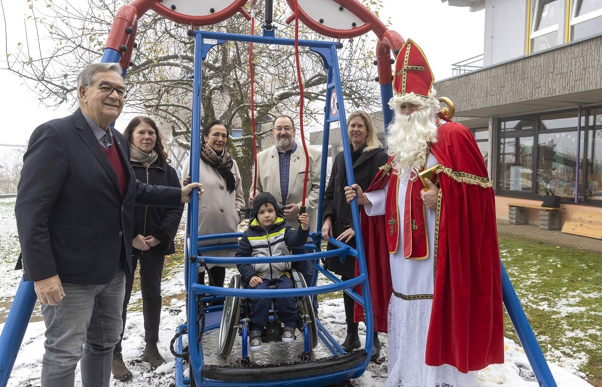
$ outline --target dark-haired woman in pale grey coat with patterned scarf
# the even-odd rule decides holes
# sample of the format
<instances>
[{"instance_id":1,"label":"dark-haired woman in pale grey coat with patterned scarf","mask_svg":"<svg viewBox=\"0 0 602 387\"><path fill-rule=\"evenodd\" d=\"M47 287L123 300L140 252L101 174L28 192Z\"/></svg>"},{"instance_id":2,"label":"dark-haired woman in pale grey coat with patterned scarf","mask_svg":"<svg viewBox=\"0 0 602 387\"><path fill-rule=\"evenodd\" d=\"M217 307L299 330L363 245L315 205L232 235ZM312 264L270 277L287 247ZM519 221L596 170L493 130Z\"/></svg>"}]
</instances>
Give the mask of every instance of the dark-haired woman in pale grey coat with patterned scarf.
<instances>
[{"instance_id":1,"label":"dark-haired woman in pale grey coat with patterned scarf","mask_svg":"<svg viewBox=\"0 0 602 387\"><path fill-rule=\"evenodd\" d=\"M203 127L200 141L199 182L203 197L199 200L199 236L237 232L243 220L244 196L238 165L226 150L230 131L221 120L211 120ZM182 176L188 176L190 159L184 163ZM216 243L237 243L237 238L199 242L199 246ZM235 256L236 249L203 252L205 256ZM223 286L226 266L208 264L214 286ZM203 278L204 268L200 268ZM200 282L200 279L199 279Z\"/></svg>"}]
</instances>

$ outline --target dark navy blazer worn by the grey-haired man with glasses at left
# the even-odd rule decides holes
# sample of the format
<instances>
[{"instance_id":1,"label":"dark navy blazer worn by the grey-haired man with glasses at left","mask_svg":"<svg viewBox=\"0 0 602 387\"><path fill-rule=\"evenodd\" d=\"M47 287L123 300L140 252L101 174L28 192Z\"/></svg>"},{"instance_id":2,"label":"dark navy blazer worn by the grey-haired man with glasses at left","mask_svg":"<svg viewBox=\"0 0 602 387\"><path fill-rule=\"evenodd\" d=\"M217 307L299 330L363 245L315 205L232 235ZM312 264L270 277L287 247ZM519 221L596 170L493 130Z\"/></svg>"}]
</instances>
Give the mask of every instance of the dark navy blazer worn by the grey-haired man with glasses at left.
<instances>
[{"instance_id":1,"label":"dark navy blazer worn by the grey-haired man with glasses at left","mask_svg":"<svg viewBox=\"0 0 602 387\"><path fill-rule=\"evenodd\" d=\"M180 205L180 188L135 179L128 141L111 131L128 176L125 197L81 110L43 123L29 138L14 209L24 280L58 274L63 283L99 285L113 279L120 261L131 273L134 202Z\"/></svg>"}]
</instances>

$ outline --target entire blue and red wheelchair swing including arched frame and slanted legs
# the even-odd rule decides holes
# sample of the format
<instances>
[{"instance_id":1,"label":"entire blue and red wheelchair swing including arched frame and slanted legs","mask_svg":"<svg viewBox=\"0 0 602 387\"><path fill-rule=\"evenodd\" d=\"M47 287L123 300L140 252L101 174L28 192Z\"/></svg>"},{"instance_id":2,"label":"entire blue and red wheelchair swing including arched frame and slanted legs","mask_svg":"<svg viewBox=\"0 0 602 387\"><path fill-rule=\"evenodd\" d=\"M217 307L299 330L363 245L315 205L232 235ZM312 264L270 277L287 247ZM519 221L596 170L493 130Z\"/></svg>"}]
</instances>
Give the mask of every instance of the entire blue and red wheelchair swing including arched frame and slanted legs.
<instances>
[{"instance_id":1,"label":"entire blue and red wheelchair swing including arched frame and slanted legs","mask_svg":"<svg viewBox=\"0 0 602 387\"><path fill-rule=\"evenodd\" d=\"M293 19L300 20L306 26L323 36L334 38L332 41L282 39L276 37L275 26L272 25L272 1L265 0L265 20L262 26L262 35L238 35L215 33L211 31L194 30L194 90L193 90L193 119L191 124L191 178L199 180L200 152L200 117L201 117L201 80L202 60L211 48L221 45L226 41L250 42L253 44L268 44L275 46L300 46L320 55L327 72L326 109L324 116L323 155L327 154L330 123L338 122L341 129L346 172L349 184L353 184L353 169L351 164L349 138L346 131L346 116L341 89L340 73L337 58L337 49L340 39L360 36L373 31L378 42L376 45L376 66L379 76L383 121L386 125L393 119L393 112L388 108L388 101L393 96L391 87L392 72L391 51L403 45L403 38L386 26L358 0L287 0L291 9L295 10L287 22ZM250 1L255 3L255 1ZM135 0L132 4L120 8L114 20L105 47L103 62L119 62L126 70L130 66L134 39L137 31L138 19L147 11L154 10L161 16L174 22L192 26L211 25L226 20L235 13L241 13L250 19L244 6L246 0L234 0L230 3L221 0ZM326 157L321 163L320 197L323 197L326 187ZM195 193L193 193L194 195ZM321 200L320 200L321 208ZM317 275L311 283L305 284L302 277L296 276L297 287L282 290L255 290L241 289L240 282L233 279L229 288L197 283L197 269L208 263L234 264L240 262L278 262L281 258L224 258L203 256L204 251L215 249L229 249L235 244L197 247L197 242L227 237L237 237L240 234L220 234L199 237L197 235L198 203L193 200L188 206L187 224L190 231L185 241L185 285L187 289L187 323L178 327L174 340L176 358L176 386L235 386L244 382L244 385L329 385L341 380L352 379L364 373L373 342L373 324L370 304L370 290L367 283L367 273L364 256L364 246L359 224L359 211L357 205L352 205L353 226L356 232L356 249L351 249L343 243L334 241L338 248L328 252L320 252L320 235L312 234L314 243L308 243L305 249L314 250L313 253L293 255L287 257L289 261L304 261L314 259L314 266L324 276L332 281L328 285L316 285ZM321 211L318 212L321 219ZM320 222L321 223L321 222ZM318 223L318 229L320 224ZM356 255L358 258L360 274L350 280L341 281L333 276L321 265L317 264L320 258L338 255ZM547 363L542 355L541 348L533 335L533 331L524 315L506 271L502 266L504 304L515 324L518 336L526 348L527 357L532 364L535 375L541 386L554 387L556 383L551 376ZM305 285L309 285L306 287ZM353 286L364 285L363 295L352 290ZM308 296L330 293L343 290L350 294L356 302L365 308L366 312L366 341L365 347L352 353L344 353L337 341L327 332L313 314ZM209 296L206 296L209 295ZM240 320L241 298L244 297L298 297L301 305L301 321L303 330L303 351L300 359L288 361L281 358L276 362L266 361L262 364L251 364L246 353L246 330L244 321ZM26 321L33 310L36 296L33 283L21 282L15 302L11 307L4 330L0 336L0 386L5 386L14 365L20 343L25 332ZM214 300L225 300L225 306L211 305ZM244 320L244 319L243 319ZM242 321L242 322L241 322ZM240 364L231 365L228 362L220 363L219 356L209 354L205 347L214 340L216 354L228 356L232 348L236 348L237 330L241 326L241 357ZM222 327L219 330L220 326ZM218 332L218 333L216 333ZM187 337L188 349L185 353L183 337ZM187 359L185 359L187 357ZM245 359L247 358L247 359ZM255 360L255 359L254 359ZM185 377L185 364L188 364L190 374ZM258 362L259 363L259 362Z\"/></svg>"}]
</instances>

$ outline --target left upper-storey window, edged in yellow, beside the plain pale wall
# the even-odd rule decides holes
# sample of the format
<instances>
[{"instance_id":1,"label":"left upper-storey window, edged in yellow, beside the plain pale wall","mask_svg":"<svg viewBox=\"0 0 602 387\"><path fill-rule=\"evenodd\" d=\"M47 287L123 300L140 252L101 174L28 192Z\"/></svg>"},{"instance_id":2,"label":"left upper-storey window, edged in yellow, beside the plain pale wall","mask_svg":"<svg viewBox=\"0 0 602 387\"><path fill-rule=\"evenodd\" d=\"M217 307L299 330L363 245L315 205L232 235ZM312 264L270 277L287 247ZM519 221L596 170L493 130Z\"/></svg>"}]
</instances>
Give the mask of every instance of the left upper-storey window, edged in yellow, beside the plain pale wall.
<instances>
[{"instance_id":1,"label":"left upper-storey window, edged in yellow, beside the plain pale wall","mask_svg":"<svg viewBox=\"0 0 602 387\"><path fill-rule=\"evenodd\" d=\"M588 1L588 0L585 0ZM531 18L531 52L558 45L558 26L563 20L561 0L537 0Z\"/></svg>"}]
</instances>

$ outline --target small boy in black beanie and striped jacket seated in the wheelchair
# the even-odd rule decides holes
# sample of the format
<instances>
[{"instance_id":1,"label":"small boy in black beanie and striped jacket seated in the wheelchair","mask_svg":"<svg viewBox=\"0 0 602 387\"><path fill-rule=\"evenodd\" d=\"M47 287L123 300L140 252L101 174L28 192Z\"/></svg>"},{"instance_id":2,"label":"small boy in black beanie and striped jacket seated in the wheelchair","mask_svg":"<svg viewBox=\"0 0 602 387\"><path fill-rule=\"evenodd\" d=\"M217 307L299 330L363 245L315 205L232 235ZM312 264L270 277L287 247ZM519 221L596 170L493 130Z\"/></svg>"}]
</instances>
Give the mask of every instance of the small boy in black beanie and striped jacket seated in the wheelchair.
<instances>
[{"instance_id":1,"label":"small boy in black beanie and striped jacket seated in the wheelchair","mask_svg":"<svg viewBox=\"0 0 602 387\"><path fill-rule=\"evenodd\" d=\"M249 229L238 243L236 256L279 256L290 255L291 247L305 244L309 235L309 215L299 215L300 228L295 231L284 220L282 209L276 198L267 192L258 194L253 200L253 218ZM293 280L288 273L291 262L276 264L238 264L241 277L255 289L291 289ZM297 305L294 297L276 299L278 318L284 324L283 342L293 342L297 327ZM250 299L249 349L261 350L261 332L270 312L270 299Z\"/></svg>"}]
</instances>

